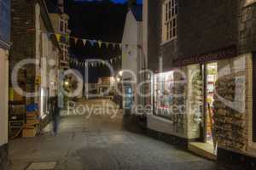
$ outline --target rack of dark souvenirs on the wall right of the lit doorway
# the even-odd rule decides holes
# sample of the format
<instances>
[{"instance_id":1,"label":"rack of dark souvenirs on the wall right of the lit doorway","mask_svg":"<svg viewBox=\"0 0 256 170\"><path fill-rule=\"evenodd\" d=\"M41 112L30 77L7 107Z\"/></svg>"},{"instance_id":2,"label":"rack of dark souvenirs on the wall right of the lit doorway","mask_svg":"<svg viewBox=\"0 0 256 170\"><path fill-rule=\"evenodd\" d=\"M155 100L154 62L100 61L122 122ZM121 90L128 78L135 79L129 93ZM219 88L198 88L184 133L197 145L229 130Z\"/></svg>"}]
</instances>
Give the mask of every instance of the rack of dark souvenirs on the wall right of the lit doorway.
<instances>
[{"instance_id":1,"label":"rack of dark souvenirs on the wall right of the lit doorway","mask_svg":"<svg viewBox=\"0 0 256 170\"><path fill-rule=\"evenodd\" d=\"M216 133L218 145L236 150L244 150L246 145L245 114L224 104L224 100L235 101L235 94L236 78L229 76L218 79L213 102L214 132Z\"/></svg>"}]
</instances>

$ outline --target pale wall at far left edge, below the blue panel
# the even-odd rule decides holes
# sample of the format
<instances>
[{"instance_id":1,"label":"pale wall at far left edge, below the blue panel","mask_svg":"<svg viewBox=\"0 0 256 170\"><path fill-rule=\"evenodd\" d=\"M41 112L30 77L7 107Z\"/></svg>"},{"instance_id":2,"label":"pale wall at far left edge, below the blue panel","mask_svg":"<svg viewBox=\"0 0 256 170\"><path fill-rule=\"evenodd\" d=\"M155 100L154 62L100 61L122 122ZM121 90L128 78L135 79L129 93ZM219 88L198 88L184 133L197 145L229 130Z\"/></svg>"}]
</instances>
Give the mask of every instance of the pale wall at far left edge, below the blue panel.
<instances>
[{"instance_id":1,"label":"pale wall at far left edge, below the blue panel","mask_svg":"<svg viewBox=\"0 0 256 170\"><path fill-rule=\"evenodd\" d=\"M8 143L8 51L0 48L0 145Z\"/></svg>"}]
</instances>

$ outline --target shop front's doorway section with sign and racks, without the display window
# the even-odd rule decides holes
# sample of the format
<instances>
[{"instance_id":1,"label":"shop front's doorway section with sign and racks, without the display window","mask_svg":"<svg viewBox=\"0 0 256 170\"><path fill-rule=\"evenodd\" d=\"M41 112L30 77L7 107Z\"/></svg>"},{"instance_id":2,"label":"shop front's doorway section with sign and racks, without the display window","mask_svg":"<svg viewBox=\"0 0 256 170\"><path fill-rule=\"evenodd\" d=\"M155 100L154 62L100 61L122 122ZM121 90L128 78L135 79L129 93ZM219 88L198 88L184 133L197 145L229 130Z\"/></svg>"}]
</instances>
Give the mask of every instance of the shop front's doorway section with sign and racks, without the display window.
<instances>
[{"instance_id":1,"label":"shop front's doorway section with sign and racks, without the display window","mask_svg":"<svg viewBox=\"0 0 256 170\"><path fill-rule=\"evenodd\" d=\"M253 55L224 48L177 63L187 75L189 150L210 159L224 150L252 155Z\"/></svg>"}]
</instances>

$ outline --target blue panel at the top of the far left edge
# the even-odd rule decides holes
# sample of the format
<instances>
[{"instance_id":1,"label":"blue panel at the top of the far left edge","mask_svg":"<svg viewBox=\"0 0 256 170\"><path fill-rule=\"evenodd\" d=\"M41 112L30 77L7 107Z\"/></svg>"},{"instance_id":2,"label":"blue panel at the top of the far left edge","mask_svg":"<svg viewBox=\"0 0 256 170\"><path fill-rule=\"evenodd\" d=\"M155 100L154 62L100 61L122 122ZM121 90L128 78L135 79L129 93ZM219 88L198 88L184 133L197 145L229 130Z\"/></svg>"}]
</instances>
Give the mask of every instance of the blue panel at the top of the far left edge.
<instances>
[{"instance_id":1,"label":"blue panel at the top of the far left edge","mask_svg":"<svg viewBox=\"0 0 256 170\"><path fill-rule=\"evenodd\" d=\"M10 0L0 0L0 40L10 41ZM5 46L0 41L0 45Z\"/></svg>"}]
</instances>

